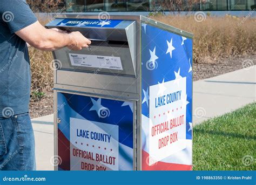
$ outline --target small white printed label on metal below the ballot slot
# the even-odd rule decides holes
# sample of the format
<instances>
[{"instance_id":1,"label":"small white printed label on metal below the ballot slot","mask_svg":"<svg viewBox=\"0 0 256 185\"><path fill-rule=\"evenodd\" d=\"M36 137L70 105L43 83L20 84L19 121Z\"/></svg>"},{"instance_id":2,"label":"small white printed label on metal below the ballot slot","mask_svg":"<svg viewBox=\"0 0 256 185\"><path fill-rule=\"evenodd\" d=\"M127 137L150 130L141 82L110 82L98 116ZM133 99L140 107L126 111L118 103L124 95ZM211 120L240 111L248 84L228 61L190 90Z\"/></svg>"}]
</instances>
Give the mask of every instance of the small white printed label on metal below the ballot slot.
<instances>
[{"instance_id":1,"label":"small white printed label on metal below the ballot slot","mask_svg":"<svg viewBox=\"0 0 256 185\"><path fill-rule=\"evenodd\" d=\"M109 68L111 70L123 70L120 57L69 53L69 58L72 66Z\"/></svg>"}]
</instances>

